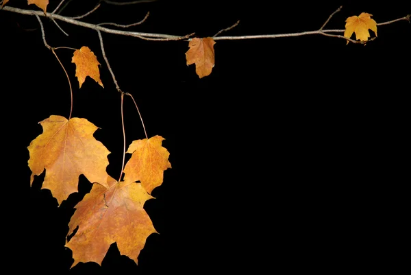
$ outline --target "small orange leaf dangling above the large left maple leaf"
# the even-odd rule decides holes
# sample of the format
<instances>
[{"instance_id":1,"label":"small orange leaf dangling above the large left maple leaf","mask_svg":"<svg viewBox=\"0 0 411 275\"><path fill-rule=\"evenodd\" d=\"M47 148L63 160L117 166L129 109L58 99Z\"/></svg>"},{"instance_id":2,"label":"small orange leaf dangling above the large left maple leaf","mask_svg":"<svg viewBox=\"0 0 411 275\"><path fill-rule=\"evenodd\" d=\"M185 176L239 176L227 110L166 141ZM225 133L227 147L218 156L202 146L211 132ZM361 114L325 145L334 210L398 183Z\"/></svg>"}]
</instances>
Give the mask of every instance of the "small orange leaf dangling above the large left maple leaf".
<instances>
[{"instance_id":1,"label":"small orange leaf dangling above the large left maple leaf","mask_svg":"<svg viewBox=\"0 0 411 275\"><path fill-rule=\"evenodd\" d=\"M73 54L71 62L76 65L75 76L77 76L77 79L79 80L80 88L82 88L82 84L87 76L90 76L104 88L103 83L100 80L100 63L97 61L95 54L90 51L88 47L83 46L81 49L77 49Z\"/></svg>"}]
</instances>

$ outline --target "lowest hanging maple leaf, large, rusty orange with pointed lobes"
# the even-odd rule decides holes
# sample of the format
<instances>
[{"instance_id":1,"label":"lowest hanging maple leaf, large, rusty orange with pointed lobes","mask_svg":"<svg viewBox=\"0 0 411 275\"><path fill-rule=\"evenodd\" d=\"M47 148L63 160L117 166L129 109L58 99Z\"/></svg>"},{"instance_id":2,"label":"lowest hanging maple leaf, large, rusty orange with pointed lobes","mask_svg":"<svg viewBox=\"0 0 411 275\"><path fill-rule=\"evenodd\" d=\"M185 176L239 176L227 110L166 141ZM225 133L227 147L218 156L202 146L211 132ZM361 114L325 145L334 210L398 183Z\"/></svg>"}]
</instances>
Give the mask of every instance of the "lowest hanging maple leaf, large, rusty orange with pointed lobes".
<instances>
[{"instance_id":1,"label":"lowest hanging maple leaf, large, rusty orange with pointed lobes","mask_svg":"<svg viewBox=\"0 0 411 275\"><path fill-rule=\"evenodd\" d=\"M79 229L66 243L73 251L74 265L93 261L101 265L114 242L121 254L136 263L140 250L152 233L157 233L143 206L151 199L137 182L110 182L110 189L93 184L75 208L69 223L69 235Z\"/></svg>"}]
</instances>

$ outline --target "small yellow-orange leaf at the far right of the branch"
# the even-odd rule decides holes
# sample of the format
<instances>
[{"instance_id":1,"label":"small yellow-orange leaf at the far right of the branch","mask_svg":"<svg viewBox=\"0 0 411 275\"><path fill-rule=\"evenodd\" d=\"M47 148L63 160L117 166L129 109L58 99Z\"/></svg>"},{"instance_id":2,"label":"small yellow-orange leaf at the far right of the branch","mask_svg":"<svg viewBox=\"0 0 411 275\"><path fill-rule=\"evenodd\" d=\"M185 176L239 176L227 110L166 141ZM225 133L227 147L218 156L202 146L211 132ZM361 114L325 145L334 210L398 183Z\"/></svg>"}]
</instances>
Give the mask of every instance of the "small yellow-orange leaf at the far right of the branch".
<instances>
[{"instance_id":1,"label":"small yellow-orange leaf at the far right of the branch","mask_svg":"<svg viewBox=\"0 0 411 275\"><path fill-rule=\"evenodd\" d=\"M371 19L373 14L362 12L360 16L350 16L345 22L344 36L350 38L353 32L356 33L356 40L366 41L370 37L369 29L377 36L377 22ZM347 44L349 41L347 40Z\"/></svg>"}]
</instances>

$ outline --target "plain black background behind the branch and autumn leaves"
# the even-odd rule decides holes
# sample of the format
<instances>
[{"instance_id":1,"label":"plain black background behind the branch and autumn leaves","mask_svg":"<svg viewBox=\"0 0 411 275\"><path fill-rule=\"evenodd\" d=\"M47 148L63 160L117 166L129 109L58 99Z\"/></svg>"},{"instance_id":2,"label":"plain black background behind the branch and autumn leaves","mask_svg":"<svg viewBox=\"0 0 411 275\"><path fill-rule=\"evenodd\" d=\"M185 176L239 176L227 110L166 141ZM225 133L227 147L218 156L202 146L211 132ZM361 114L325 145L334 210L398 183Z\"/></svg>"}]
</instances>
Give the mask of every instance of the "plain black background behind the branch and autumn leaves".
<instances>
[{"instance_id":1,"label":"plain black background behind the branch and autumn leaves","mask_svg":"<svg viewBox=\"0 0 411 275\"><path fill-rule=\"evenodd\" d=\"M48 11L59 1L50 1ZM98 1L71 1L76 16ZM164 1L134 6L106 3L89 23L140 21L139 32L213 36L344 29L348 16L378 22L410 14L406 1ZM27 8L25 1L8 5ZM34 5L30 6L38 10ZM97 33L42 17L52 47L88 46L101 63L101 88L78 88L73 51L57 51L73 86L73 117L97 125L95 137L111 154L118 178L123 158L120 95L101 56ZM186 41L147 41L103 33L110 65L123 91L136 99L149 136L163 136L172 169L164 172L145 209L151 235L138 265L112 245L100 267L73 263L64 248L74 206L90 191L58 207L42 176L29 186L30 141L39 121L68 117L66 75L42 43L34 16L0 11L3 128L3 239L12 270L54 274L170 274L181 272L390 272L403 263L409 158L411 25L378 27L378 38L345 45L319 35L218 40L208 77L186 66ZM373 32L371 32L373 36ZM145 138L132 100L124 101L127 146ZM10 190L9 190L10 189ZM407 206L409 208L409 205ZM8 267L5 267L8 269Z\"/></svg>"}]
</instances>

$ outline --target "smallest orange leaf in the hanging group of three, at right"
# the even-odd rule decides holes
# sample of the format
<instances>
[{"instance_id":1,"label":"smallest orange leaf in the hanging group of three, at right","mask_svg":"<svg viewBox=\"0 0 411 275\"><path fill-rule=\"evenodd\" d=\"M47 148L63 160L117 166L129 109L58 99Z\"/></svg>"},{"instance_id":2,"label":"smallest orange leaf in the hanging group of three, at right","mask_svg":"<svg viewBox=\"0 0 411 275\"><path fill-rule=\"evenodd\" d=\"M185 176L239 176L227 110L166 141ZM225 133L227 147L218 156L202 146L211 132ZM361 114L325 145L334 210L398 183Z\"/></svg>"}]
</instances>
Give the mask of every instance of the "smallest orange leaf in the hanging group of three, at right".
<instances>
[{"instance_id":1,"label":"smallest orange leaf in the hanging group of three, at right","mask_svg":"<svg viewBox=\"0 0 411 275\"><path fill-rule=\"evenodd\" d=\"M162 147L162 141L162 136L153 136L150 139L133 141L129 145L127 153L132 154L132 157L125 165L125 182L140 180L148 193L162 184L163 171L171 168L170 153Z\"/></svg>"}]
</instances>

